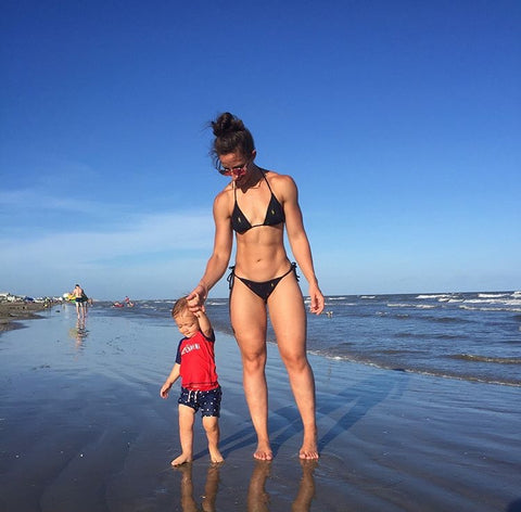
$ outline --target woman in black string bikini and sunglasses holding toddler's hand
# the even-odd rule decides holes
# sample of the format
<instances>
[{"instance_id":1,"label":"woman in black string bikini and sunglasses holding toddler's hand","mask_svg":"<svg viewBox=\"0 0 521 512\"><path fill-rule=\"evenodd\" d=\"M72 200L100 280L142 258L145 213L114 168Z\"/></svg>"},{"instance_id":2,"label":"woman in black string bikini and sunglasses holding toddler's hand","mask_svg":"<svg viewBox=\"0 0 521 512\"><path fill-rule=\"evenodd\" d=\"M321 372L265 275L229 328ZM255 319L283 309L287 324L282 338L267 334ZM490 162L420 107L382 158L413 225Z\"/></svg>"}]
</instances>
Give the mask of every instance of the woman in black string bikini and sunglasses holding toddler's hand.
<instances>
[{"instance_id":1,"label":"woman in black string bikini and sunglasses holding toddler's hand","mask_svg":"<svg viewBox=\"0 0 521 512\"><path fill-rule=\"evenodd\" d=\"M306 356L306 311L295 265L283 244L284 225L292 253L309 284L310 311L320 315L323 296L313 267L309 242L298 206L297 189L289 176L255 164L255 145L242 120L230 113L212 123L213 157L230 177L214 201L214 251L198 286L188 296L190 307L202 307L208 291L225 273L236 231L236 266L229 276L230 319L243 363L243 384L257 434L254 457L271 460L266 385L267 311L288 370L302 418L301 459L318 459L315 420L315 381Z\"/></svg>"}]
</instances>

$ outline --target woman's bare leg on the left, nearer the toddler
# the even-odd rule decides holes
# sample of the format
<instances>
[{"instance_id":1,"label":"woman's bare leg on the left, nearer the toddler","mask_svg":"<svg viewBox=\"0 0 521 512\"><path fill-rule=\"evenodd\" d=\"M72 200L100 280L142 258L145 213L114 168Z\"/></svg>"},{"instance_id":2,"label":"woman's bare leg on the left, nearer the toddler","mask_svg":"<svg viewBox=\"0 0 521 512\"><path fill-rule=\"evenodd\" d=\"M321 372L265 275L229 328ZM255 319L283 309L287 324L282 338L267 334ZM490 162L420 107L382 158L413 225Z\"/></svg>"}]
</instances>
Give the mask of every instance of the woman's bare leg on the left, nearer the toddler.
<instances>
[{"instance_id":1,"label":"woman's bare leg on the left, nearer the toddler","mask_svg":"<svg viewBox=\"0 0 521 512\"><path fill-rule=\"evenodd\" d=\"M266 305L244 283L236 279L230 296L230 318L241 350L242 377L257 449L253 457L271 460L268 437L268 389L266 385Z\"/></svg>"}]
</instances>

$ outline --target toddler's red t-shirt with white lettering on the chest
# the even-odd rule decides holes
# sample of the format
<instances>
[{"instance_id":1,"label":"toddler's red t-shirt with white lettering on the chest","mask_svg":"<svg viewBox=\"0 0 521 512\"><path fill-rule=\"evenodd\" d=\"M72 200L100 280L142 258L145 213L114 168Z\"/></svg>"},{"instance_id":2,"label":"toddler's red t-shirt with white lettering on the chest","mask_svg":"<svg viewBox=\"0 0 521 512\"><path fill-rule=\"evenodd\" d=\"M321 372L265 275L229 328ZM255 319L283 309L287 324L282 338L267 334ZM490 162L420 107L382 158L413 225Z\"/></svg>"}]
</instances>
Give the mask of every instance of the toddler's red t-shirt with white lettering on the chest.
<instances>
[{"instance_id":1,"label":"toddler's red t-shirt with white lettering on the chest","mask_svg":"<svg viewBox=\"0 0 521 512\"><path fill-rule=\"evenodd\" d=\"M215 389L217 371L214 353L215 335L206 337L201 331L192 337L183 337L177 348L176 362L181 366L181 386L191 391Z\"/></svg>"}]
</instances>

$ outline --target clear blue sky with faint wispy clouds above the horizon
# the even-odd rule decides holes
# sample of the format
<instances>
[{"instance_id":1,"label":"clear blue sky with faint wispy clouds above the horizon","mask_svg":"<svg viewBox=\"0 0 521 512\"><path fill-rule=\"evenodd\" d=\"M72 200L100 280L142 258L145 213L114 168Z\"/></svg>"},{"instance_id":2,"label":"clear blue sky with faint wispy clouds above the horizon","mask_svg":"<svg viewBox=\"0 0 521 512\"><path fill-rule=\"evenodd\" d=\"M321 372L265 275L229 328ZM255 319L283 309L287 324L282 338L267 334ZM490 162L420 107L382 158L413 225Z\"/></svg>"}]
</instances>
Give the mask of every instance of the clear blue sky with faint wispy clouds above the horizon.
<instances>
[{"instance_id":1,"label":"clear blue sky with faint wispy clouds above the horizon","mask_svg":"<svg viewBox=\"0 0 521 512\"><path fill-rule=\"evenodd\" d=\"M21 0L0 18L0 291L189 292L224 111L295 179L325 294L521 289L520 2Z\"/></svg>"}]
</instances>

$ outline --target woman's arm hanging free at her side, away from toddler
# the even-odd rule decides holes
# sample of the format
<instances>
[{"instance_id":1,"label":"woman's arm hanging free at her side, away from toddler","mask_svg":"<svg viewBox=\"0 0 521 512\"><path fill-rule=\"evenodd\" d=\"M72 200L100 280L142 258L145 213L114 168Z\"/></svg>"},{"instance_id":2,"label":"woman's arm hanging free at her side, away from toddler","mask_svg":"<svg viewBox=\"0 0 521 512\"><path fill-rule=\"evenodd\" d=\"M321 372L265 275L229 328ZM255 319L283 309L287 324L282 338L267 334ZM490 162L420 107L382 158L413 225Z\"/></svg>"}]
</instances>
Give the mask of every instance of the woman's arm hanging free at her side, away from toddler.
<instances>
[{"instance_id":1,"label":"woman's arm hanging free at her side, away from toddler","mask_svg":"<svg viewBox=\"0 0 521 512\"><path fill-rule=\"evenodd\" d=\"M323 309L323 295L318 286L318 279L313 265L312 247L304 229L302 210L298 205L298 190L290 176L279 175L281 197L285 215L285 230L291 251L302 273L309 284L310 311L320 315Z\"/></svg>"}]
</instances>

